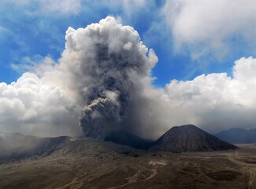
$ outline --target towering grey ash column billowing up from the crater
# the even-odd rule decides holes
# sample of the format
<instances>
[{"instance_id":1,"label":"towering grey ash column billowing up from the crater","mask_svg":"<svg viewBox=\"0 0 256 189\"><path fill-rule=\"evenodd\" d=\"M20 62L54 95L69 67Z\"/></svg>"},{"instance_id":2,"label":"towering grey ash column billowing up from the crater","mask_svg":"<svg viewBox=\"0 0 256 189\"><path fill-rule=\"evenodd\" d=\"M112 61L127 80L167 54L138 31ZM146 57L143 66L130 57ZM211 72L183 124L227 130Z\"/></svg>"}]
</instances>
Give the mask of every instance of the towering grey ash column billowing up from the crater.
<instances>
[{"instance_id":1,"label":"towering grey ash column billowing up from the crater","mask_svg":"<svg viewBox=\"0 0 256 189\"><path fill-rule=\"evenodd\" d=\"M158 58L140 42L137 31L113 17L86 28L69 28L66 40L63 61L72 62L65 65L85 104L80 116L83 135L104 139L132 119L135 99L143 98L143 80L150 78Z\"/></svg>"}]
</instances>

